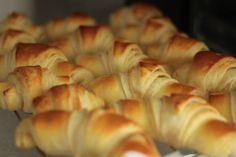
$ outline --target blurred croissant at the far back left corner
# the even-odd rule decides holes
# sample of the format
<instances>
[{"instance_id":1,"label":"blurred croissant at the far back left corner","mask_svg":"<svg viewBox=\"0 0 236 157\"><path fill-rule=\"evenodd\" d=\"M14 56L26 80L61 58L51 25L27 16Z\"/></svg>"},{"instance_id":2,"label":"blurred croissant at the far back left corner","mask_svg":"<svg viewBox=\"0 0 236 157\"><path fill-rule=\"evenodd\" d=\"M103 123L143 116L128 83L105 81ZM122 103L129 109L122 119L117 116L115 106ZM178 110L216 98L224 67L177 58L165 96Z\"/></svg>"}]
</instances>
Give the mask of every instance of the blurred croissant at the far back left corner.
<instances>
[{"instance_id":1,"label":"blurred croissant at the far back left corner","mask_svg":"<svg viewBox=\"0 0 236 157\"><path fill-rule=\"evenodd\" d=\"M31 19L22 13L13 12L0 22L0 32L9 29L25 31L37 42L43 42L47 38L44 27L34 25Z\"/></svg>"}]
</instances>

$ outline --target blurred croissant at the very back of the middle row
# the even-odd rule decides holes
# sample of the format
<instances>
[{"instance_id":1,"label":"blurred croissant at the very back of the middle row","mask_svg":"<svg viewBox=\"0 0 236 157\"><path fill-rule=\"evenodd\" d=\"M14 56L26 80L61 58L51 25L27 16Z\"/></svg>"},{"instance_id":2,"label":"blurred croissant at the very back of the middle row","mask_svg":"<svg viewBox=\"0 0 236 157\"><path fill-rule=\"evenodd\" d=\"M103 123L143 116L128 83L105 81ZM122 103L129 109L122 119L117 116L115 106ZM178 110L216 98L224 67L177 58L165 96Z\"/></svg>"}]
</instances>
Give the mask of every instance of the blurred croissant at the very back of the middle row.
<instances>
[{"instance_id":1,"label":"blurred croissant at the very back of the middle row","mask_svg":"<svg viewBox=\"0 0 236 157\"><path fill-rule=\"evenodd\" d=\"M92 26L96 21L88 15L81 13L74 13L65 19L55 18L50 20L46 26L46 32L49 40L63 38L64 36L73 33L79 26Z\"/></svg>"}]
</instances>

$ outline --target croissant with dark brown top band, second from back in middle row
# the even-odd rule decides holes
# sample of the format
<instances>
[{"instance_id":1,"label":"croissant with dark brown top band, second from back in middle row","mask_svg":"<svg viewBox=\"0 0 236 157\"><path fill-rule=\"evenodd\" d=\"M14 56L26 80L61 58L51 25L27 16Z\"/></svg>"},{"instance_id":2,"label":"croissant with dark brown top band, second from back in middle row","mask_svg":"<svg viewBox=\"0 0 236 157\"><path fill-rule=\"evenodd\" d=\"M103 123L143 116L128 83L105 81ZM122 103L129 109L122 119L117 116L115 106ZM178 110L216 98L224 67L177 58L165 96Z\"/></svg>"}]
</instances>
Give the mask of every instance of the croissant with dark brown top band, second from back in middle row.
<instances>
[{"instance_id":1,"label":"croissant with dark brown top band, second from back in middle row","mask_svg":"<svg viewBox=\"0 0 236 157\"><path fill-rule=\"evenodd\" d=\"M113 34L105 25L79 26L75 33L53 41L50 45L60 49L70 60L78 54L107 52L112 47Z\"/></svg>"}]
</instances>

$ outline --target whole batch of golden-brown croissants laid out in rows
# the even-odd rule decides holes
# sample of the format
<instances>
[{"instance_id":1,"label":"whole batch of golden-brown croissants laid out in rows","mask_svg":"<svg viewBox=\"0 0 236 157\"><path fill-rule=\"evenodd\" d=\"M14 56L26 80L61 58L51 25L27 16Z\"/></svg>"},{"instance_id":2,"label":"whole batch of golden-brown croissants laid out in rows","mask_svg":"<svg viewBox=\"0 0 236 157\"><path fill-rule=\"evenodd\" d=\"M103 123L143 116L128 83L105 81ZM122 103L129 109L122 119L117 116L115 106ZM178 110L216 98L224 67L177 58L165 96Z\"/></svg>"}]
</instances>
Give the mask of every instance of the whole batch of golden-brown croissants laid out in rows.
<instances>
[{"instance_id":1,"label":"whole batch of golden-brown croissants laid out in rows","mask_svg":"<svg viewBox=\"0 0 236 157\"><path fill-rule=\"evenodd\" d=\"M157 7L0 22L0 108L24 111L19 148L74 157L160 157L154 141L236 153L236 59L179 32Z\"/></svg>"}]
</instances>

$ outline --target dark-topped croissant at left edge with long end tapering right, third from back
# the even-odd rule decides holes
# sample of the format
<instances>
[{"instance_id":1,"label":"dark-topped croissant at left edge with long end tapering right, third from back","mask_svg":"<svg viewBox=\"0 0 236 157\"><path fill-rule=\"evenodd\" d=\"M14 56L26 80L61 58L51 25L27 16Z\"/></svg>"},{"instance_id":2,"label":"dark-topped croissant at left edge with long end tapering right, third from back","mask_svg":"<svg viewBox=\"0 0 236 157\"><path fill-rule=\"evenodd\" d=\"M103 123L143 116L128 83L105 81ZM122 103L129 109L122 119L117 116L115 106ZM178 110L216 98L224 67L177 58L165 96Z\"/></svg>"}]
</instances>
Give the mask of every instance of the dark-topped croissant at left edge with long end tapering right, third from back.
<instances>
[{"instance_id":1,"label":"dark-topped croissant at left edge with long end tapering right, third from back","mask_svg":"<svg viewBox=\"0 0 236 157\"><path fill-rule=\"evenodd\" d=\"M0 63L2 79L16 67L34 65L47 68L58 76L72 77L75 81L86 83L93 78L90 71L68 62L60 50L46 44L20 43L14 51L2 55Z\"/></svg>"}]
</instances>

